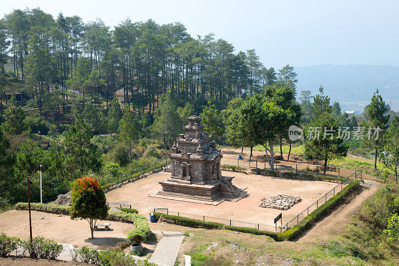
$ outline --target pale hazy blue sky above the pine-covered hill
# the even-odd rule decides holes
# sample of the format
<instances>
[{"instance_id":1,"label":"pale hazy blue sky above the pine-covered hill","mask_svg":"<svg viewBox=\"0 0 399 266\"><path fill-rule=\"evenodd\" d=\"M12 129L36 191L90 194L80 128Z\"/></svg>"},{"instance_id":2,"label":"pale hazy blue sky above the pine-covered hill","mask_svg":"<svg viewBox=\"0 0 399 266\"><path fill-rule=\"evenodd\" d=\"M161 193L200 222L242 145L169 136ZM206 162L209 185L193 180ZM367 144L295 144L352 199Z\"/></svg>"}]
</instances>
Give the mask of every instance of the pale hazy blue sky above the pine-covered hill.
<instances>
[{"instance_id":1,"label":"pale hazy blue sky above the pine-covered hill","mask_svg":"<svg viewBox=\"0 0 399 266\"><path fill-rule=\"evenodd\" d=\"M398 0L2 0L0 6L0 13L40 7L54 17L60 11L84 22L99 17L111 27L127 17L180 21L192 36L213 32L235 52L256 49L266 67L399 66Z\"/></svg>"}]
</instances>

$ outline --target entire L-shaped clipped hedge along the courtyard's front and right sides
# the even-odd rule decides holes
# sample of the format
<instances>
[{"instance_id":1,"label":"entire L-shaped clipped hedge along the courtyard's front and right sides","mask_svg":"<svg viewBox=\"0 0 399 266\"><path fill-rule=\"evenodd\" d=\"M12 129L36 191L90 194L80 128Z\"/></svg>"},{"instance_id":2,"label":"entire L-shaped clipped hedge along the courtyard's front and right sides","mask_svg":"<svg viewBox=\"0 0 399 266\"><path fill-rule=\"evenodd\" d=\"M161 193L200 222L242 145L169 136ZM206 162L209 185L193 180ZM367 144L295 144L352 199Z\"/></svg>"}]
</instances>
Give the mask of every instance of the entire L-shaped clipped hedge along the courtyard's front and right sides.
<instances>
[{"instance_id":1,"label":"entire L-shaped clipped hedge along the courtyard's front and right sides","mask_svg":"<svg viewBox=\"0 0 399 266\"><path fill-rule=\"evenodd\" d=\"M249 233L253 235L265 235L271 237L276 241L290 240L295 236L297 236L299 233L301 233L303 230L305 230L310 223L315 222L321 217L323 217L329 210L334 208L342 200L343 197L347 196L354 189L358 188L359 184L360 184L359 181L351 182L348 186L343 188L339 193L337 193L327 202L322 204L318 209L314 210L311 214L305 217L298 225L288 229L284 233L260 231L255 228L247 228L247 227L226 226L220 223L204 222L200 220L189 219L175 215L162 214L162 217L167 222L173 222L174 224L187 226L187 227L204 228L204 229L225 229L242 233ZM156 219L159 219L161 217L161 213L154 213L154 215Z\"/></svg>"}]
</instances>

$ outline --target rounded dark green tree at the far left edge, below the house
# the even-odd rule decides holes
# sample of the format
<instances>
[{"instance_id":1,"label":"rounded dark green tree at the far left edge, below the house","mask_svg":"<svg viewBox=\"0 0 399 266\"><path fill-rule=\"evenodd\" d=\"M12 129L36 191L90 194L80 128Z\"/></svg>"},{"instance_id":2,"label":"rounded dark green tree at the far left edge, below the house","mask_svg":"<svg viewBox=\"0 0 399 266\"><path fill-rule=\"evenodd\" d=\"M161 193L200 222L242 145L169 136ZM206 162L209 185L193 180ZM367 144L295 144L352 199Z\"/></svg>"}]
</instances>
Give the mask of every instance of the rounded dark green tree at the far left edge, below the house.
<instances>
[{"instance_id":1,"label":"rounded dark green tree at the far left edge, below the house","mask_svg":"<svg viewBox=\"0 0 399 266\"><path fill-rule=\"evenodd\" d=\"M5 121L1 124L1 127L5 133L10 135L19 135L23 131L27 130L24 119L25 113L22 111L21 107L10 106L10 108L5 111Z\"/></svg>"}]
</instances>

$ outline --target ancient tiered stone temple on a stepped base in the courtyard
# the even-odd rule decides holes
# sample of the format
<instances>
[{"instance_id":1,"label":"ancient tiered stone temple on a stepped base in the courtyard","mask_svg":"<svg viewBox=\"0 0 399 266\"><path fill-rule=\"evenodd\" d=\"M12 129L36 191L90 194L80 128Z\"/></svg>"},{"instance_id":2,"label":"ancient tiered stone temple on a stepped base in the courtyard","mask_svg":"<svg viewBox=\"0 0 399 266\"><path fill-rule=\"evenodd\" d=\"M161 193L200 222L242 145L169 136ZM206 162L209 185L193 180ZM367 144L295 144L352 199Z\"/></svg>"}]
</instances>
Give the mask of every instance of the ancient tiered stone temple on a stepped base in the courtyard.
<instances>
[{"instance_id":1,"label":"ancient tiered stone temple on a stepped base in the courtyard","mask_svg":"<svg viewBox=\"0 0 399 266\"><path fill-rule=\"evenodd\" d=\"M169 154L171 177L159 182L162 190L152 196L205 204L242 198L231 183L233 177L221 175L223 156L208 132L202 132L200 117L190 116L183 128L186 133L179 135Z\"/></svg>"}]
</instances>

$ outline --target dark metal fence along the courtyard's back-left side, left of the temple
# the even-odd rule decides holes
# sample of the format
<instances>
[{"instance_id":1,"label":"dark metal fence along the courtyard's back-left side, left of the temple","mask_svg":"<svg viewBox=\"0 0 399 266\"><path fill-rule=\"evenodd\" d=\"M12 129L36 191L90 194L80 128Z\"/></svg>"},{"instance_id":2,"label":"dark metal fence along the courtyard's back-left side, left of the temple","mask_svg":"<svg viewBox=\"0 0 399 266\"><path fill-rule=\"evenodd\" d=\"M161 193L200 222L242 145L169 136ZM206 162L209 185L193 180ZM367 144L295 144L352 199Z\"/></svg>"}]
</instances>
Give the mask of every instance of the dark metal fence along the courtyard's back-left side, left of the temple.
<instances>
[{"instance_id":1,"label":"dark metal fence along the courtyard's back-left side, left of the temple","mask_svg":"<svg viewBox=\"0 0 399 266\"><path fill-rule=\"evenodd\" d=\"M158 161L148 163L146 165L140 166L136 169L126 171L123 174L117 175L115 177L103 177L99 178L99 183L103 187L103 190L109 190L111 188L116 188L119 185L126 182L134 182L146 176L149 172L161 170L166 165L170 164L171 160L169 158L160 159Z\"/></svg>"}]
</instances>

